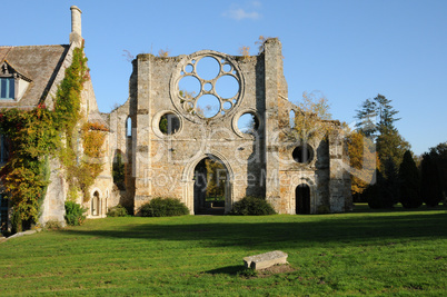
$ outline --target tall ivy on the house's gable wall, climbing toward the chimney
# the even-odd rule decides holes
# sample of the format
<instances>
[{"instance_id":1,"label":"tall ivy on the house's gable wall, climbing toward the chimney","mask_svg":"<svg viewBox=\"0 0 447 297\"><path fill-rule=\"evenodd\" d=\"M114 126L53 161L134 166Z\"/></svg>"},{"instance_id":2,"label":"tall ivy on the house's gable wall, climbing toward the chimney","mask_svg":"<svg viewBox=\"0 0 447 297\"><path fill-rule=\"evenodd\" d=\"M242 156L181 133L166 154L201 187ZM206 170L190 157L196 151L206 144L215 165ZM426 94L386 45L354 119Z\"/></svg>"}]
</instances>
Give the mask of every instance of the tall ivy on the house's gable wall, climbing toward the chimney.
<instances>
[{"instance_id":1,"label":"tall ivy on the house's gable wall, climbing toward the chimney","mask_svg":"<svg viewBox=\"0 0 447 297\"><path fill-rule=\"evenodd\" d=\"M87 122L80 112L81 91L89 78L82 46L73 50L73 61L59 86L54 107L62 133L59 159L69 184L69 200L76 200L78 192L82 194L83 201L90 200L88 190L102 171L100 158L107 129L102 125Z\"/></svg>"}]
</instances>

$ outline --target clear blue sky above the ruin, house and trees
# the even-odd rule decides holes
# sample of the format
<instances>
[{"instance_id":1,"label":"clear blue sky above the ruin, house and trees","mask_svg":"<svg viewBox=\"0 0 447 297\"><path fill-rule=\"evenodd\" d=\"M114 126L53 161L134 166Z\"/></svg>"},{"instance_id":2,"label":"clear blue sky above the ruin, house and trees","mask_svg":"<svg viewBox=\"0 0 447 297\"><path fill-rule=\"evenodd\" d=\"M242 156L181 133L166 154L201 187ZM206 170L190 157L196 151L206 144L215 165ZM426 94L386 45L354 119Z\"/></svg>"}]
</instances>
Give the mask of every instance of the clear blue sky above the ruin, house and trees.
<instances>
[{"instance_id":1,"label":"clear blue sky above the ruin, house and trees","mask_svg":"<svg viewBox=\"0 0 447 297\"><path fill-rule=\"evenodd\" d=\"M327 97L335 119L352 122L377 93L399 111L396 126L416 154L447 141L447 1L3 1L2 46L68 43L70 6L82 36L101 111L128 98L137 56L211 49L239 55L259 36L282 42L289 99Z\"/></svg>"}]
</instances>

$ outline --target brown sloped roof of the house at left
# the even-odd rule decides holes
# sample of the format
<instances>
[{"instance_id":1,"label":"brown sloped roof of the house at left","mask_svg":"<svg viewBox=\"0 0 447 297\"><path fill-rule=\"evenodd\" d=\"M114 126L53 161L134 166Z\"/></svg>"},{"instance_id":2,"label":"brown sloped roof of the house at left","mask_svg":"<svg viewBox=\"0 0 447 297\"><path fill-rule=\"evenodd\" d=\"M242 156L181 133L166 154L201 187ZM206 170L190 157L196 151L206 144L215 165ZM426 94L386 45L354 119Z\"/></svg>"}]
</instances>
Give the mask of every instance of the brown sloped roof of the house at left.
<instances>
[{"instance_id":1,"label":"brown sloped roof of the house at left","mask_svg":"<svg viewBox=\"0 0 447 297\"><path fill-rule=\"evenodd\" d=\"M30 108L44 100L69 50L61 46L0 47L0 63L7 61L14 70L31 79L27 92L18 102L2 102L3 107Z\"/></svg>"}]
</instances>

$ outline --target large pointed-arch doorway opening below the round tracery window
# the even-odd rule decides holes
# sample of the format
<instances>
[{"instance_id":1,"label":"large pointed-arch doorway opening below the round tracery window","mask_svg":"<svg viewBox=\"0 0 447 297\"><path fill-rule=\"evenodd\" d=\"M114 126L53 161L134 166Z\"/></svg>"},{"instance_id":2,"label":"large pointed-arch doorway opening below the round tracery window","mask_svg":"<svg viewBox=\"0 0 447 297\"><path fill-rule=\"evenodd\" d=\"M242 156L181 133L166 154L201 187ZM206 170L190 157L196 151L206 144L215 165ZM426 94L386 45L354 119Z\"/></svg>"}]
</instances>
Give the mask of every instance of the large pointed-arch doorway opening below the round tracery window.
<instances>
[{"instance_id":1,"label":"large pointed-arch doorway opening below the round tracery window","mask_svg":"<svg viewBox=\"0 0 447 297\"><path fill-rule=\"evenodd\" d=\"M224 215L228 199L228 170L215 157L200 160L195 168L193 212Z\"/></svg>"}]
</instances>

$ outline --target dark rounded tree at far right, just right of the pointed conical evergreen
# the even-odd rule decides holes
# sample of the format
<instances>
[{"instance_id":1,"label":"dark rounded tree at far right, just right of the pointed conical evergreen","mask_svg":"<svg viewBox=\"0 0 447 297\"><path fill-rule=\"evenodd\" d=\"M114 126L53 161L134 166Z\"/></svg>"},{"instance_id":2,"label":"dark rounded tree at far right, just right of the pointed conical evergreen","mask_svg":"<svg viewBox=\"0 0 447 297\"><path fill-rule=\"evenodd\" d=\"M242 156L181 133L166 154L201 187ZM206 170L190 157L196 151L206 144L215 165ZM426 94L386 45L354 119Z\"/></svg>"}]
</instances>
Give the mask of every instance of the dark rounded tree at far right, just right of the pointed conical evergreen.
<instances>
[{"instance_id":1,"label":"dark rounded tree at far right, just right of the pointed conical evergreen","mask_svg":"<svg viewBox=\"0 0 447 297\"><path fill-rule=\"evenodd\" d=\"M443 200L443 184L439 167L435 161L435 156L423 155L420 162L421 186L420 192L423 201L430 207L437 206Z\"/></svg>"}]
</instances>

